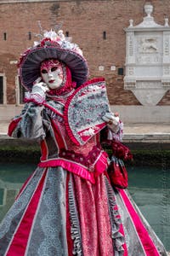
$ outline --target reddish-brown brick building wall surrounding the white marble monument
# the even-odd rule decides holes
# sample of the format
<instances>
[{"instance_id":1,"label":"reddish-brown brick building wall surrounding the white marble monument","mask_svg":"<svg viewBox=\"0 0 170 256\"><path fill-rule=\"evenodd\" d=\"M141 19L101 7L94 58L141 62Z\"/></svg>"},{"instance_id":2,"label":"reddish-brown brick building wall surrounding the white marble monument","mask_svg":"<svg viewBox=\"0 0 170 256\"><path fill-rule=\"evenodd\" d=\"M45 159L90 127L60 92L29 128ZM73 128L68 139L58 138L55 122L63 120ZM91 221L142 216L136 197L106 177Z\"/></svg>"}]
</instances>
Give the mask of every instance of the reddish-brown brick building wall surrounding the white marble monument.
<instances>
[{"instance_id":1,"label":"reddish-brown brick building wall surrounding the white marble monument","mask_svg":"<svg viewBox=\"0 0 170 256\"><path fill-rule=\"evenodd\" d=\"M105 77L111 105L140 105L131 91L123 89L123 75L117 73L118 68L124 69L125 65L123 29L130 19L134 20L134 25L143 20L144 3L144 0L1 1L0 73L7 78L7 103L16 102L15 61L37 40L33 34L39 33L37 21L41 20L42 29L47 30L62 24L64 32L69 32L73 42L80 45L89 64L90 77ZM163 24L170 14L169 0L151 3L156 22ZM99 66L105 70L99 71ZM111 71L111 66L116 66L116 70ZM169 98L170 92L167 92L159 105L169 105Z\"/></svg>"}]
</instances>

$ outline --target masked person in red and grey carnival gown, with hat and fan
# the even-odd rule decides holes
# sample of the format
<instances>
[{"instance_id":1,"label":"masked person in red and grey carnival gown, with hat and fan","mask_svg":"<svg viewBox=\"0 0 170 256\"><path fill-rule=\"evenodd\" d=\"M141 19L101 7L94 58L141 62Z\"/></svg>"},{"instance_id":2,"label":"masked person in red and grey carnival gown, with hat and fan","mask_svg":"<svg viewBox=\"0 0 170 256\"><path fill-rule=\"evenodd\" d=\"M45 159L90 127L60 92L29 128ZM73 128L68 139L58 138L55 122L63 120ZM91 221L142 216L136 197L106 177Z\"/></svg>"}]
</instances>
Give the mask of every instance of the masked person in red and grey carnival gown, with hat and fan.
<instances>
[{"instance_id":1,"label":"masked person in red and grey carnival gown, with hat and fan","mask_svg":"<svg viewBox=\"0 0 170 256\"><path fill-rule=\"evenodd\" d=\"M132 158L111 113L105 79L62 31L44 32L19 62L26 105L11 137L37 139L42 156L0 226L0 255L167 255L125 189ZM102 148L107 132L113 154Z\"/></svg>"}]
</instances>

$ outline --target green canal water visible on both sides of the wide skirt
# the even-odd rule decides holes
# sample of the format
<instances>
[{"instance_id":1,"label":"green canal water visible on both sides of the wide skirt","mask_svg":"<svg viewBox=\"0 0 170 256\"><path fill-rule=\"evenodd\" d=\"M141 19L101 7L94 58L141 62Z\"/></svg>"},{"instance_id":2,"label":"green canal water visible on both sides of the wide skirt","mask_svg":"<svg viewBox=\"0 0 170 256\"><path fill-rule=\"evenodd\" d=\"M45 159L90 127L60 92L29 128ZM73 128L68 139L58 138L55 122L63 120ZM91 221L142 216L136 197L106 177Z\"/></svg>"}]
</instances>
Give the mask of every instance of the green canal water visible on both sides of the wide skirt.
<instances>
[{"instance_id":1,"label":"green canal water visible on both sides of the wide skirt","mask_svg":"<svg viewBox=\"0 0 170 256\"><path fill-rule=\"evenodd\" d=\"M13 204L21 185L35 165L5 163L0 169L0 221ZM167 251L170 251L170 170L161 167L127 167L129 192Z\"/></svg>"}]
</instances>

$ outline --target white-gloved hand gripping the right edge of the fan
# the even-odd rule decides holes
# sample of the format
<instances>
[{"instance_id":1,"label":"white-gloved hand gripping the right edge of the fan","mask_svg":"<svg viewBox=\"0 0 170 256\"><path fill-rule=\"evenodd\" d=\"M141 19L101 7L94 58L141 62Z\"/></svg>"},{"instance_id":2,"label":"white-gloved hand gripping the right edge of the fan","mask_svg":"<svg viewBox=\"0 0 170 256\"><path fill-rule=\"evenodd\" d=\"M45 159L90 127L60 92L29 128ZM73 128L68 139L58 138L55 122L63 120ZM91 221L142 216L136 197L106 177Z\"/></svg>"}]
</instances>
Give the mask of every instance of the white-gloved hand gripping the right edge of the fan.
<instances>
[{"instance_id":1,"label":"white-gloved hand gripping the right edge of the fan","mask_svg":"<svg viewBox=\"0 0 170 256\"><path fill-rule=\"evenodd\" d=\"M119 130L119 115L118 113L105 113L102 119L107 123L107 126L113 132L117 132Z\"/></svg>"}]
</instances>

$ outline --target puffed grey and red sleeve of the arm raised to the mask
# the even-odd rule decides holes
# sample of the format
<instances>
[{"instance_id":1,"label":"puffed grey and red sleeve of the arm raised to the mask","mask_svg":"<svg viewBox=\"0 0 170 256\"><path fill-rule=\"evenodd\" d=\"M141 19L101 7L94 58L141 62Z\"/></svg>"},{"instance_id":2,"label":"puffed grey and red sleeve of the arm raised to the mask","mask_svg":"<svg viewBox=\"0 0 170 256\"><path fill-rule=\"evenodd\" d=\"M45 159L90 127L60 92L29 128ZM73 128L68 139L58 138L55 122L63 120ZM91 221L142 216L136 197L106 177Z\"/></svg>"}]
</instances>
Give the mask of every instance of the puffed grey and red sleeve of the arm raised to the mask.
<instances>
[{"instance_id":1,"label":"puffed grey and red sleeve of the arm raised to the mask","mask_svg":"<svg viewBox=\"0 0 170 256\"><path fill-rule=\"evenodd\" d=\"M34 102L26 103L20 116L15 117L8 126L10 137L43 139L50 128L46 108Z\"/></svg>"}]
</instances>

